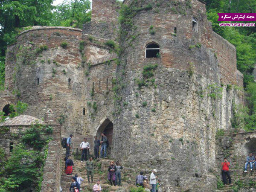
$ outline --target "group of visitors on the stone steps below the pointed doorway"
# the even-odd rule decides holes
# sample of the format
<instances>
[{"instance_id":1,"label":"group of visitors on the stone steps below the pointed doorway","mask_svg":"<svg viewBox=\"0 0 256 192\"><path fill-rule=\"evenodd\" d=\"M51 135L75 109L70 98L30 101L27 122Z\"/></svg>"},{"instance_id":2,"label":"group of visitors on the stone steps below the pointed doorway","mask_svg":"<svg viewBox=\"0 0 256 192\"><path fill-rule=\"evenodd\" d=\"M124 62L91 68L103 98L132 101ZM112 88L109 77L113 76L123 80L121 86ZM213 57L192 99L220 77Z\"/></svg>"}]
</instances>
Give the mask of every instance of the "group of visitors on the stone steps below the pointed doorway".
<instances>
[{"instance_id":1,"label":"group of visitors on the stone steps below the pointed doorway","mask_svg":"<svg viewBox=\"0 0 256 192\"><path fill-rule=\"evenodd\" d=\"M67 175L73 174L73 160L69 159L70 157L70 148L71 148L71 139L73 135L70 134L70 137L67 138L67 147L66 147L66 157L65 157L65 173ZM95 159L99 158L99 147L101 145L100 154L101 157L106 157L107 153L107 143L108 139L105 136L104 133L102 133L101 140L97 139L97 136L94 136L94 155ZM93 183L93 158L89 157L87 159L87 154L89 153L90 144L87 142L87 138L84 138L84 141L80 144L81 149L81 162L86 161L86 170L87 170L87 179L88 183ZM104 155L103 155L104 151ZM108 180L112 185L120 186L121 185L121 170L123 169L122 165L119 162L116 162L116 165L114 164L114 161L110 161L110 165L108 167ZM142 186L146 189L150 189L151 192L157 192L160 180L157 180L157 176L155 175L157 173L156 169L153 169L150 179L143 175L143 172L140 172L140 175L136 177L136 185ZM90 181L91 179L91 181ZM75 177L72 177L72 183L70 185L70 191L73 192L79 192L80 191L80 185L81 181L84 181L83 178L78 177L78 175L75 175ZM149 183L148 183L149 181ZM96 181L96 184L93 186L93 192L100 192L102 191L100 180Z\"/></svg>"}]
</instances>

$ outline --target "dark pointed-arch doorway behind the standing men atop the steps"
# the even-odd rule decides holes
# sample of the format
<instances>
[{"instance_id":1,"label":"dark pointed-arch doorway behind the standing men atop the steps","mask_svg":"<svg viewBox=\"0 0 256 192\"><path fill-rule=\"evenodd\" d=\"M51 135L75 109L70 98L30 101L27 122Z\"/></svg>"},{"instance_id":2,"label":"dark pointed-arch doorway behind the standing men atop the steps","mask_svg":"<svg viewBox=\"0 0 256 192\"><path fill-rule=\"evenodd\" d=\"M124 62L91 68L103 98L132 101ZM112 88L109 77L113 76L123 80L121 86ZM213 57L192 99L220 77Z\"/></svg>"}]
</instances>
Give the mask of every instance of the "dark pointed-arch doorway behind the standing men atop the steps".
<instances>
[{"instance_id":1,"label":"dark pointed-arch doorway behind the standing men atop the steps","mask_svg":"<svg viewBox=\"0 0 256 192\"><path fill-rule=\"evenodd\" d=\"M96 136L99 138L99 140L102 139L102 132L104 132L105 136L108 138L109 147L107 148L107 156L109 156L111 154L113 138L113 123L109 119L105 119L97 130Z\"/></svg>"}]
</instances>

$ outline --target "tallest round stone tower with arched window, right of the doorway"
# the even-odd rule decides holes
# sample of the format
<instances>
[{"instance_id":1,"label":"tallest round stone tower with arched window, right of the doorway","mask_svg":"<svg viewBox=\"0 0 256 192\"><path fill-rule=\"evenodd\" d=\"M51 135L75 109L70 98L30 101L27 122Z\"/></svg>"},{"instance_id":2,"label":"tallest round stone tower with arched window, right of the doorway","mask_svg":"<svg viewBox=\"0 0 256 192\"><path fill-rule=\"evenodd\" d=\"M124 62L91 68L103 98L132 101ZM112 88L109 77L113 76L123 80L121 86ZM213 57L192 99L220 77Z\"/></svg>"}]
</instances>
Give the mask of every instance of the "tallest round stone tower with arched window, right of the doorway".
<instances>
[{"instance_id":1,"label":"tallest round stone tower with arched window, right of the doorway","mask_svg":"<svg viewBox=\"0 0 256 192\"><path fill-rule=\"evenodd\" d=\"M202 0L123 3L112 155L157 169L167 191L212 191L215 133L239 102L226 84L242 86L236 49L212 31Z\"/></svg>"}]
</instances>

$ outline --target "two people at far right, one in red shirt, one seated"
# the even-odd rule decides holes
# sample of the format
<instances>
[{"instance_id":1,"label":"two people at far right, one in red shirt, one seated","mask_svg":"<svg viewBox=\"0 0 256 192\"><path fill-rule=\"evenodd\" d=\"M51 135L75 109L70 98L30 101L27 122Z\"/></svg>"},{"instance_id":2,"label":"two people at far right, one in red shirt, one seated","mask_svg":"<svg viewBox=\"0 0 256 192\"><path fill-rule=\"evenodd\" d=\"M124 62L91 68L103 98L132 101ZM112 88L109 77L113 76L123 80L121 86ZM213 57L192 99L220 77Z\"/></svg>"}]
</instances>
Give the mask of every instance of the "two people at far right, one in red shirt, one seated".
<instances>
[{"instance_id":1,"label":"two people at far right, one in red shirt, one seated","mask_svg":"<svg viewBox=\"0 0 256 192\"><path fill-rule=\"evenodd\" d=\"M246 157L246 162L244 165L244 173L247 173L247 166L250 164L250 171L253 171L253 164L256 169L256 159L253 156L253 153L249 153L249 155ZM227 157L224 157L224 162L221 163L222 169L221 169L221 175L223 179L224 185L227 184L227 178L229 184L231 184L231 177L229 172L230 162L227 160Z\"/></svg>"}]
</instances>

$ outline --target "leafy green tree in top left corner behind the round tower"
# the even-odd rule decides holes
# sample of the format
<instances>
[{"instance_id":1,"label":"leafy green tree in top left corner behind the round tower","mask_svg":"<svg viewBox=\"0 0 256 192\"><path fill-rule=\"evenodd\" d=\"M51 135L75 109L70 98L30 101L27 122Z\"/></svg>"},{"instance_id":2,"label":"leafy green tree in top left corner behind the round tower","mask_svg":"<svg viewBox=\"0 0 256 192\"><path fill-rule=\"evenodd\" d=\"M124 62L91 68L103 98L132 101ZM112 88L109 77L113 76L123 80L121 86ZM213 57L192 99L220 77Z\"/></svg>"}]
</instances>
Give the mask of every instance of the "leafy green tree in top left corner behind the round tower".
<instances>
[{"instance_id":1,"label":"leafy green tree in top left corner behind the round tower","mask_svg":"<svg viewBox=\"0 0 256 192\"><path fill-rule=\"evenodd\" d=\"M0 54L15 42L18 29L24 26L49 25L53 0L0 1Z\"/></svg>"}]
</instances>

